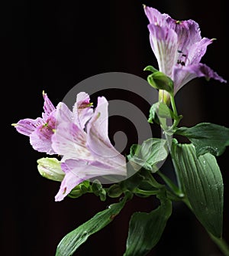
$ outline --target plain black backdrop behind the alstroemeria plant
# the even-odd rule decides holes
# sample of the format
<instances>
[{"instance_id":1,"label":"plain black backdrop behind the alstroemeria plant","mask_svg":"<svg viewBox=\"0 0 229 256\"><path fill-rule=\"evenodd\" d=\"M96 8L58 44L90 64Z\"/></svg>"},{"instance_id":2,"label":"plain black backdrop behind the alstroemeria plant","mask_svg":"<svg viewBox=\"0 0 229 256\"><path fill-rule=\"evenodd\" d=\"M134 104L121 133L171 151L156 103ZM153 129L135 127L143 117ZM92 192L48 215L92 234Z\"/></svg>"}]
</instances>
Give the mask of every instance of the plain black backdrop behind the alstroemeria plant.
<instances>
[{"instance_id":1,"label":"plain black backdrop behind the alstroemeria plant","mask_svg":"<svg viewBox=\"0 0 229 256\"><path fill-rule=\"evenodd\" d=\"M2 43L2 218L1 255L51 256L69 231L87 221L110 202L95 195L54 202L60 183L37 172L44 154L31 148L28 138L11 123L40 117L42 91L56 105L77 83L95 74L127 72L147 78L148 64L156 66L150 49L143 4L173 18L192 18L202 37L217 38L202 63L228 80L226 3L208 1L8 1L1 8ZM113 96L118 94L114 92ZM218 81L192 80L176 95L181 125L228 123L229 87ZM106 95L109 97L109 95ZM4 105L3 105L4 104ZM143 107L148 111L148 106ZM111 129L114 129L114 127ZM7 134L5 135L5 130ZM131 135L131 133L130 133ZM133 138L132 138L133 139ZM129 136L128 143L132 143ZM224 177L224 238L229 241L228 149L218 157ZM74 255L119 256L124 253L132 212L149 212L154 199L134 198L120 215L93 235ZM176 204L163 236L149 255L221 255L185 205Z\"/></svg>"}]
</instances>

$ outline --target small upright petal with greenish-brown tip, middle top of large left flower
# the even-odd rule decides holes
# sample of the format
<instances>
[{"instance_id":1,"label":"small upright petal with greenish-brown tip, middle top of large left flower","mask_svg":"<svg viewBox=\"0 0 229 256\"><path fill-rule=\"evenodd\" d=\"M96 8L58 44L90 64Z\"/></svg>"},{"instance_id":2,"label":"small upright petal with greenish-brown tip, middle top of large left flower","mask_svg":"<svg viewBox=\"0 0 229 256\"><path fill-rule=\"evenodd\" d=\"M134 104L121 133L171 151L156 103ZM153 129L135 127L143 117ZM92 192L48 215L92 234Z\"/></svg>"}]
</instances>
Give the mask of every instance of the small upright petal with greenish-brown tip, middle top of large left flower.
<instances>
[{"instance_id":1,"label":"small upright petal with greenish-brown tip, middle top of large left flower","mask_svg":"<svg viewBox=\"0 0 229 256\"><path fill-rule=\"evenodd\" d=\"M85 123L92 117L93 109L90 103L89 94L81 92L77 94L76 103L73 107L73 122L76 123L82 130L85 128Z\"/></svg>"}]
</instances>

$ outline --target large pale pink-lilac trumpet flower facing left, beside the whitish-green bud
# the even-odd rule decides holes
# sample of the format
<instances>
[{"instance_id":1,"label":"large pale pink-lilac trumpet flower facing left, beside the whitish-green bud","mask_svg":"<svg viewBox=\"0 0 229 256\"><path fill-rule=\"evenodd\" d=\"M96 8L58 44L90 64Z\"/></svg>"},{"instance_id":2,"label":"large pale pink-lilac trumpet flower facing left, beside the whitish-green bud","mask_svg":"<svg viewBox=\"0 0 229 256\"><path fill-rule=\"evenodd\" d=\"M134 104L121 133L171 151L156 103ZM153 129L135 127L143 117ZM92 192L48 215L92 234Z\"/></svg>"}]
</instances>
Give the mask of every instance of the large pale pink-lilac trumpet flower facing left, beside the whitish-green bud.
<instances>
[{"instance_id":1,"label":"large pale pink-lilac trumpet flower facing left, beside the whitish-green bud","mask_svg":"<svg viewBox=\"0 0 229 256\"><path fill-rule=\"evenodd\" d=\"M53 150L62 156L65 176L57 193L61 201L85 179L98 176L126 176L126 160L108 138L108 101L98 97L92 110L89 95L77 95L73 112L65 103L56 107L56 130L52 136Z\"/></svg>"}]
</instances>

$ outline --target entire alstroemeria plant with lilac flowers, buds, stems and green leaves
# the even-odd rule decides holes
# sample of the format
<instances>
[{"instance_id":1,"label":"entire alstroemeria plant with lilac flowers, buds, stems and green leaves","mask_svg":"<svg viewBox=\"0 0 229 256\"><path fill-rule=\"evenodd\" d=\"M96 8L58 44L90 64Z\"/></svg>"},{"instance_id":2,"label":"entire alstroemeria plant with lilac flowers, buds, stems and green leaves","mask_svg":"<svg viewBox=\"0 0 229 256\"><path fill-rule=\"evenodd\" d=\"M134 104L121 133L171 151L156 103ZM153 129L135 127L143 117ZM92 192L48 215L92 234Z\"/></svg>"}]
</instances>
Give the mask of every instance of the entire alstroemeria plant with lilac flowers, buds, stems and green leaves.
<instances>
[{"instance_id":1,"label":"entire alstroemeria plant with lilac flowers, buds, stems and green leaves","mask_svg":"<svg viewBox=\"0 0 229 256\"><path fill-rule=\"evenodd\" d=\"M229 129L214 123L180 127L182 115L174 99L178 90L196 77L226 83L200 62L214 39L202 38L193 20L177 21L147 6L144 11L158 62L158 69L144 69L150 72L148 84L159 91L148 122L160 126L163 138L148 138L131 146L127 156L121 155L108 137L108 100L98 97L93 108L86 92L76 95L72 110L63 102L54 107L44 93L42 117L13 124L18 133L30 137L34 149L56 155L37 160L42 176L61 182L56 201L85 193L94 193L102 201L117 198L116 203L67 234L56 256L72 255L90 235L112 222L134 196L154 195L160 200L158 208L131 216L124 256L147 255L155 247L174 201L188 205L224 255L229 255L222 238L224 185L216 160L229 146ZM189 143L179 143L176 135L185 136ZM168 156L173 160L176 182L160 169Z\"/></svg>"}]
</instances>

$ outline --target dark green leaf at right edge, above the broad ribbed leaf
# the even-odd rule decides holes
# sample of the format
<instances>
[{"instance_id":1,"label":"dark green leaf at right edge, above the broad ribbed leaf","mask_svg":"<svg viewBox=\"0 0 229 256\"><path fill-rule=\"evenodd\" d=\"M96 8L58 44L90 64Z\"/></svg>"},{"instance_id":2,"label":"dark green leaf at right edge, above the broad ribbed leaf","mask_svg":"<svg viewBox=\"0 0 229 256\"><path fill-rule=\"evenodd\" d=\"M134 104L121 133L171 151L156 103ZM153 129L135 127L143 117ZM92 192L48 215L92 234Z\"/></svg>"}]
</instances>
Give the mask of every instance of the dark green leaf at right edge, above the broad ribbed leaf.
<instances>
[{"instance_id":1,"label":"dark green leaf at right edge, above the broad ribbed leaf","mask_svg":"<svg viewBox=\"0 0 229 256\"><path fill-rule=\"evenodd\" d=\"M180 127L176 134L186 136L193 143L197 156L205 153L220 156L229 146L229 129L214 123L198 123L191 128Z\"/></svg>"}]
</instances>

